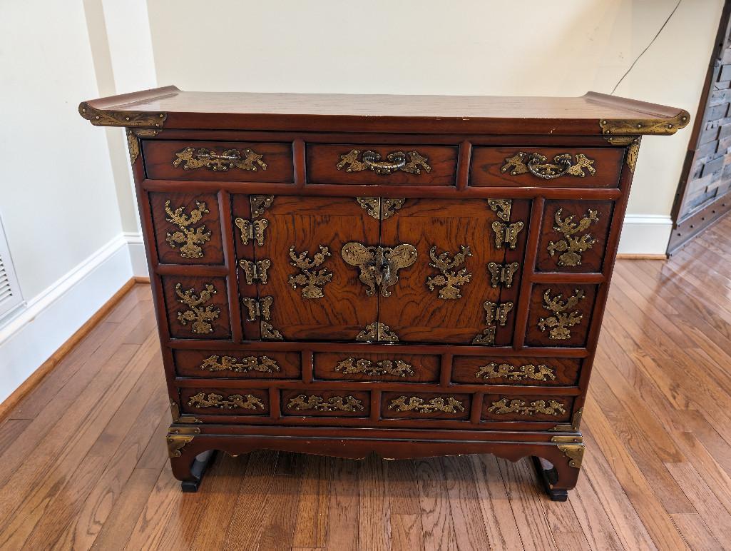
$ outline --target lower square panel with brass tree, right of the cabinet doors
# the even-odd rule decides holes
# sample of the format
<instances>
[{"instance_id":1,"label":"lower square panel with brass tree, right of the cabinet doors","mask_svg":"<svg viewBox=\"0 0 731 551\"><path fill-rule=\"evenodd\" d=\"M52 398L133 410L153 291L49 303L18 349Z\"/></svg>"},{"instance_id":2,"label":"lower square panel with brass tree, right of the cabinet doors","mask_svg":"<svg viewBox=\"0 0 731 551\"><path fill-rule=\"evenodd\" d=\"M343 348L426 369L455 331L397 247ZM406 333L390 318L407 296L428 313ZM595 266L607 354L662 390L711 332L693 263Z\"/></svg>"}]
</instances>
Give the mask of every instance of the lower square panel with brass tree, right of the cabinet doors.
<instances>
[{"instance_id":1,"label":"lower square panel with brass tree, right of the cabinet doors","mask_svg":"<svg viewBox=\"0 0 731 551\"><path fill-rule=\"evenodd\" d=\"M597 285L534 285L531 289L526 345L586 345L596 289Z\"/></svg>"}]
</instances>

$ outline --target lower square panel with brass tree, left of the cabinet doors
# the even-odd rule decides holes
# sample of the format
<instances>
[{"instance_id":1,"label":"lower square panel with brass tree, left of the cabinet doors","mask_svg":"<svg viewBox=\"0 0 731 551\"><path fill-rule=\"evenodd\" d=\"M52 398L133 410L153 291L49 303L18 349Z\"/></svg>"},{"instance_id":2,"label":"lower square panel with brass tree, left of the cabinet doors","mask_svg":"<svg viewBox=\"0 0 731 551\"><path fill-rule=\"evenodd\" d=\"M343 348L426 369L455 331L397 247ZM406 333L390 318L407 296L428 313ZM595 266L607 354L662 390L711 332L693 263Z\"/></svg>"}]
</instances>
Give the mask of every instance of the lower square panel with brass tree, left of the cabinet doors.
<instances>
[{"instance_id":1,"label":"lower square panel with brass tree, left of the cabinet doors","mask_svg":"<svg viewBox=\"0 0 731 551\"><path fill-rule=\"evenodd\" d=\"M224 277L163 276L161 280L170 337L231 338Z\"/></svg>"}]
</instances>

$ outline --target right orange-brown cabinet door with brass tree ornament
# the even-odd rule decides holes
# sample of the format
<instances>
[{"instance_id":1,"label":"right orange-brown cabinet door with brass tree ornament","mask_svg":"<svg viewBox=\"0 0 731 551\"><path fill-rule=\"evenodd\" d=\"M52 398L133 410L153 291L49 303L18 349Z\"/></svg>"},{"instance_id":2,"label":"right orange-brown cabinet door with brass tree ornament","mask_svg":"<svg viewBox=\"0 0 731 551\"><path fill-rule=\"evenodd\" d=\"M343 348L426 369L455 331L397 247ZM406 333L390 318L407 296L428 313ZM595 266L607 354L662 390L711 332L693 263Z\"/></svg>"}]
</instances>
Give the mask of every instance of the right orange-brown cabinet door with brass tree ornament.
<instances>
[{"instance_id":1,"label":"right orange-brown cabinet door with brass tree ornament","mask_svg":"<svg viewBox=\"0 0 731 551\"><path fill-rule=\"evenodd\" d=\"M400 342L510 342L514 302L505 297L517 296L522 262L512 263L527 235L526 218L511 219L510 206L515 214L527 211L525 203L406 199L381 222L381 245L410 244L417 260L398 271L390 296L379 297L379 321ZM507 293L500 277L506 263Z\"/></svg>"}]
</instances>

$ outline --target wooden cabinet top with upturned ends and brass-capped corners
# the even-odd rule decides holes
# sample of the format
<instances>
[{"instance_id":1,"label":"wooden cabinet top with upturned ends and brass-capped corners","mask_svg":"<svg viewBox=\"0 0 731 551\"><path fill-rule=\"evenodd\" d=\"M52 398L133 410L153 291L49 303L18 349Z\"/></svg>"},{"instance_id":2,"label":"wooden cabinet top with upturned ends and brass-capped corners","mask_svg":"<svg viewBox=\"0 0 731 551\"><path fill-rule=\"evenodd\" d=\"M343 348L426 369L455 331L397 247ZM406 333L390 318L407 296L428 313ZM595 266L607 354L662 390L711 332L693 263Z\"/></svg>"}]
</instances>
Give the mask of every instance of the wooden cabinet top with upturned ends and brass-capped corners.
<instances>
[{"instance_id":1,"label":"wooden cabinet top with upturned ends and brass-capped corners","mask_svg":"<svg viewBox=\"0 0 731 551\"><path fill-rule=\"evenodd\" d=\"M682 109L588 92L580 97L189 92L175 86L83 102L97 126L216 130L673 134Z\"/></svg>"}]
</instances>

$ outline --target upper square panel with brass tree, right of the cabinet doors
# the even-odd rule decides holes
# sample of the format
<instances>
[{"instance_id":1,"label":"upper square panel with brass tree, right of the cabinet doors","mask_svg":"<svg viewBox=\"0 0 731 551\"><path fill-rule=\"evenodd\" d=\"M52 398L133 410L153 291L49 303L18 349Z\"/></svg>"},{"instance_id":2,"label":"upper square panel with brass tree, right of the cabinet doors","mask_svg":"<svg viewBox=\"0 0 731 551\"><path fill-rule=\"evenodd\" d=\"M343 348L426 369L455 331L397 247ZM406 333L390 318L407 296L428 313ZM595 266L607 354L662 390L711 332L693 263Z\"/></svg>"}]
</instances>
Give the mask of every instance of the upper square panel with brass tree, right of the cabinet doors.
<instances>
[{"instance_id":1,"label":"upper square panel with brass tree, right of the cabinet doors","mask_svg":"<svg viewBox=\"0 0 731 551\"><path fill-rule=\"evenodd\" d=\"M602 271L613 201L547 200L537 271Z\"/></svg>"}]
</instances>

